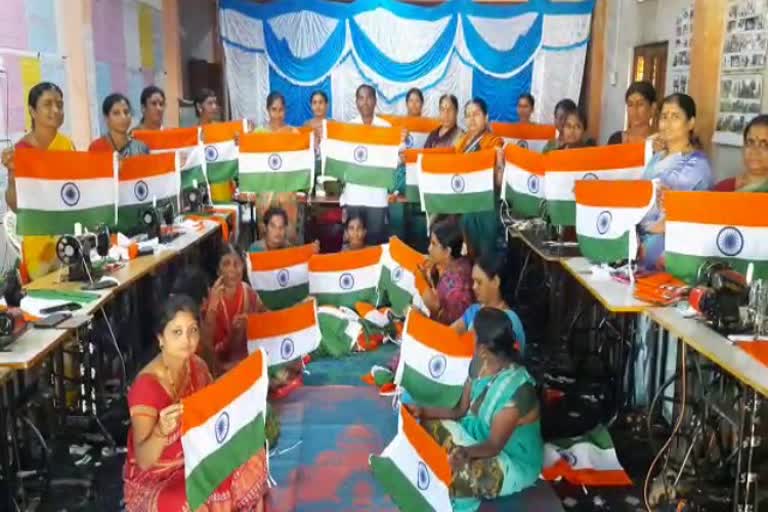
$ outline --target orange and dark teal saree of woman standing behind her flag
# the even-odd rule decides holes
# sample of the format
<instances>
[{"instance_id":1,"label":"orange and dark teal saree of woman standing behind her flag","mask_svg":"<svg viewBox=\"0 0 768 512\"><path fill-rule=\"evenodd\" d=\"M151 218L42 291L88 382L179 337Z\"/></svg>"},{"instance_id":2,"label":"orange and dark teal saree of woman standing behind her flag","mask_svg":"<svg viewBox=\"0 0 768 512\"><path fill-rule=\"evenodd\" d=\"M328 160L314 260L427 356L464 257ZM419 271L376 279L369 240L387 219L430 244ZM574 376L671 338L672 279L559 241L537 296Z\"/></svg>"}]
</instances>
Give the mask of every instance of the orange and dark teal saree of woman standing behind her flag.
<instances>
[{"instance_id":1,"label":"orange and dark teal saree of woman standing behind her flag","mask_svg":"<svg viewBox=\"0 0 768 512\"><path fill-rule=\"evenodd\" d=\"M456 142L457 153L474 153L486 149L501 148L504 139L486 131L480 136L462 135ZM498 197L498 194L496 195ZM467 213L461 218L461 227L470 256L477 258L481 254L496 250L499 238L498 209L487 212Z\"/></svg>"}]
</instances>

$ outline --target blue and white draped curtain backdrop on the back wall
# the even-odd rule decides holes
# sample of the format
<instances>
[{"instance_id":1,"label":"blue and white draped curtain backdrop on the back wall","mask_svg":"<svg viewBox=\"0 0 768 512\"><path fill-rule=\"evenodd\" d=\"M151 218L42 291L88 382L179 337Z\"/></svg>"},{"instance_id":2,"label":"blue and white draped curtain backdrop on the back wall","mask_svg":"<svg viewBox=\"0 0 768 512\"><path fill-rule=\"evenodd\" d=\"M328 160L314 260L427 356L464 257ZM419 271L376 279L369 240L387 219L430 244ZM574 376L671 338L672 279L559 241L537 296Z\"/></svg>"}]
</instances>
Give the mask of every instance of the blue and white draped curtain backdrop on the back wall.
<instances>
[{"instance_id":1,"label":"blue and white draped curtain backdrop on the back wall","mask_svg":"<svg viewBox=\"0 0 768 512\"><path fill-rule=\"evenodd\" d=\"M517 97L530 91L535 120L549 122L557 101L578 99L594 0L219 4L232 118L266 122L267 95L280 91L288 123L301 125L318 89L334 119L357 115L361 83L376 88L382 113L405 113L406 92L419 87L425 115L437 116L438 98L452 93L462 105L485 99L500 121L515 121Z\"/></svg>"}]
</instances>

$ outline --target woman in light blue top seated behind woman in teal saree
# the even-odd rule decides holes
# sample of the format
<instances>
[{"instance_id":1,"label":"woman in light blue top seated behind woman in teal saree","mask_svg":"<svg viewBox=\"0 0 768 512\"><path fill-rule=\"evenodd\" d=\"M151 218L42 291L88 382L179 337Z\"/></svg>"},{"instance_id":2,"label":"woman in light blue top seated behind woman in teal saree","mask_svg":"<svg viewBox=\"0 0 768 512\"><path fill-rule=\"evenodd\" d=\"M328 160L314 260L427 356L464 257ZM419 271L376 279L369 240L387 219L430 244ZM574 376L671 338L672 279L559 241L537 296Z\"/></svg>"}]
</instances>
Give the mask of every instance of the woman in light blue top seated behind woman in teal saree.
<instances>
[{"instance_id":1,"label":"woman in light blue top seated behind woman in teal saree","mask_svg":"<svg viewBox=\"0 0 768 512\"><path fill-rule=\"evenodd\" d=\"M496 308L507 314L515 331L515 340L521 354L525 353L525 330L520 317L504 299L506 287L507 261L503 254L484 254L475 261L472 267L472 291L477 302L469 306L461 318L453 322L451 327L459 334L464 334L474 328L477 313L482 308Z\"/></svg>"}]
</instances>

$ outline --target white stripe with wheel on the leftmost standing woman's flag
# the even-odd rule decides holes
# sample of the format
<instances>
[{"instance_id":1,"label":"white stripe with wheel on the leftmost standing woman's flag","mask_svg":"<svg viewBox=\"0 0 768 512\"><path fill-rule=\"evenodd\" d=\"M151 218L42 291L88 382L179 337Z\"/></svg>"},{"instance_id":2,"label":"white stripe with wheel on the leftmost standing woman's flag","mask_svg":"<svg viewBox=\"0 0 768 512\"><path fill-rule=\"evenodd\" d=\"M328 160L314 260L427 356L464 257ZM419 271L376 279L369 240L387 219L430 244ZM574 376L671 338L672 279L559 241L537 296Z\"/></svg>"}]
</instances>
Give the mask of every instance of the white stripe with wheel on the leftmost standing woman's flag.
<instances>
[{"instance_id":1,"label":"white stripe with wheel on the leftmost standing woman's flag","mask_svg":"<svg viewBox=\"0 0 768 512\"><path fill-rule=\"evenodd\" d=\"M48 212L85 210L115 204L115 179L48 180L16 178L18 207Z\"/></svg>"}]
</instances>

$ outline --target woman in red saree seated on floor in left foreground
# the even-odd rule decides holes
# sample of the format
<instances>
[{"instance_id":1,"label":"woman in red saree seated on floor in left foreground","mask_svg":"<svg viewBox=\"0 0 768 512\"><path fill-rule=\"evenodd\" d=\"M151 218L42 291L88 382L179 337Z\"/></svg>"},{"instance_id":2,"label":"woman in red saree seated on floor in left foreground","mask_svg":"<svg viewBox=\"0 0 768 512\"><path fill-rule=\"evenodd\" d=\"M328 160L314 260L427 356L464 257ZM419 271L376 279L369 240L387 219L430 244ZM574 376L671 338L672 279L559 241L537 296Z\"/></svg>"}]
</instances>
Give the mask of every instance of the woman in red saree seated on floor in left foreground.
<instances>
[{"instance_id":1,"label":"woman in red saree seated on floor in left foreground","mask_svg":"<svg viewBox=\"0 0 768 512\"><path fill-rule=\"evenodd\" d=\"M180 400L212 382L195 355L200 342L198 309L183 295L164 302L155 329L160 353L139 372L128 392L131 428L123 474L129 512L188 511ZM199 510L264 510L266 451L229 476Z\"/></svg>"}]
</instances>

